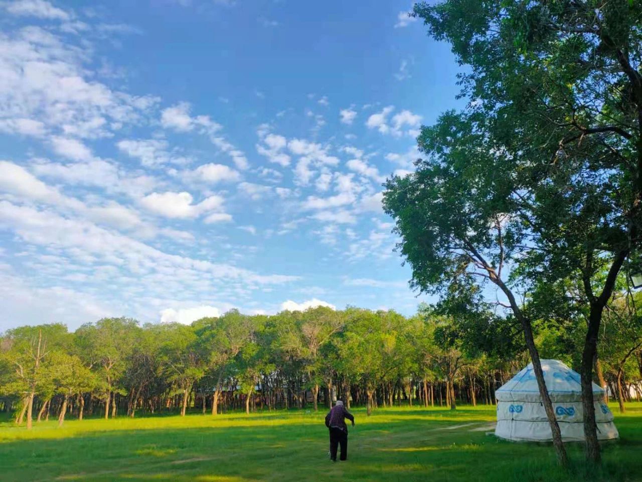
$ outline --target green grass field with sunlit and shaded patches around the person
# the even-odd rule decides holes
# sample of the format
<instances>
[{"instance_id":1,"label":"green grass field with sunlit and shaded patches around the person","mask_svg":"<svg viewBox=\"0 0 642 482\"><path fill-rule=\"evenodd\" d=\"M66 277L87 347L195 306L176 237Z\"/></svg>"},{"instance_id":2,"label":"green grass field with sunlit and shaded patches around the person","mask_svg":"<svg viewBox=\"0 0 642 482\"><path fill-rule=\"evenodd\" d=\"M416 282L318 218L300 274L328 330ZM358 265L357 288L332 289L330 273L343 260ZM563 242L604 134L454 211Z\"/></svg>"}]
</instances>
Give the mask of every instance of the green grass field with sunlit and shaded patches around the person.
<instances>
[{"instance_id":1,"label":"green grass field with sunlit and shaded patches around the person","mask_svg":"<svg viewBox=\"0 0 642 482\"><path fill-rule=\"evenodd\" d=\"M612 407L614 408L614 407ZM486 434L494 407L353 411L349 460L327 458L325 411L0 424L0 481L566 481L587 479L582 447L560 472L550 445ZM616 415L603 481L642 481L642 404Z\"/></svg>"}]
</instances>

